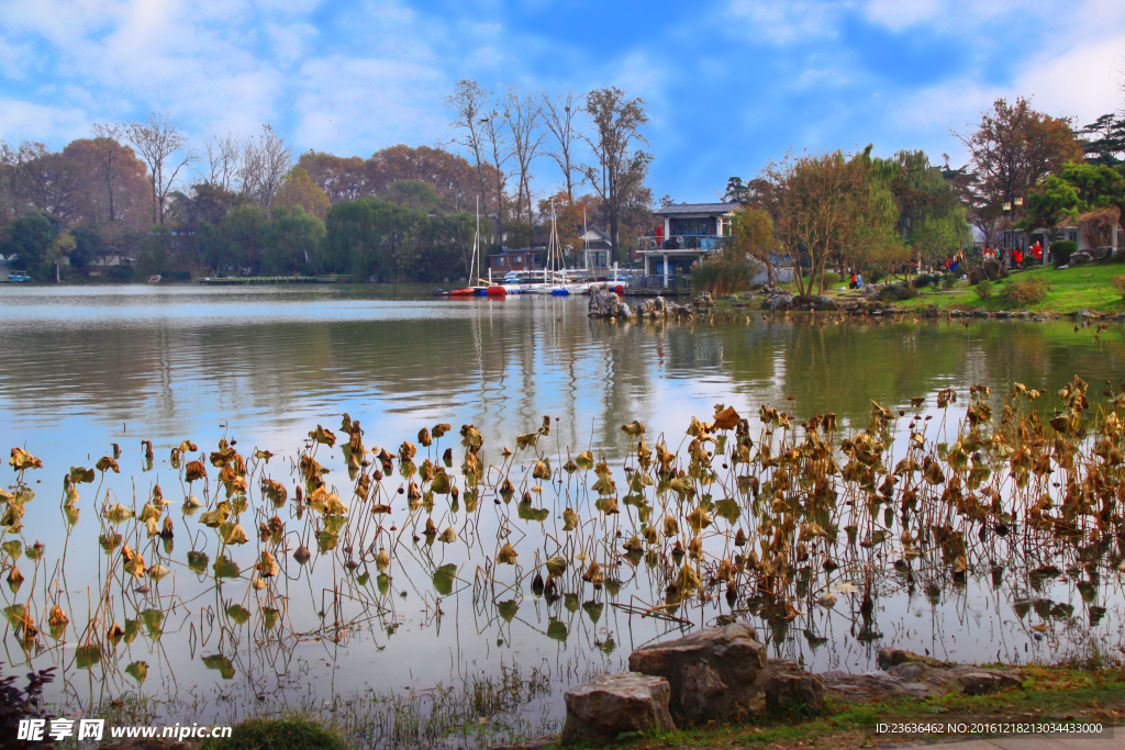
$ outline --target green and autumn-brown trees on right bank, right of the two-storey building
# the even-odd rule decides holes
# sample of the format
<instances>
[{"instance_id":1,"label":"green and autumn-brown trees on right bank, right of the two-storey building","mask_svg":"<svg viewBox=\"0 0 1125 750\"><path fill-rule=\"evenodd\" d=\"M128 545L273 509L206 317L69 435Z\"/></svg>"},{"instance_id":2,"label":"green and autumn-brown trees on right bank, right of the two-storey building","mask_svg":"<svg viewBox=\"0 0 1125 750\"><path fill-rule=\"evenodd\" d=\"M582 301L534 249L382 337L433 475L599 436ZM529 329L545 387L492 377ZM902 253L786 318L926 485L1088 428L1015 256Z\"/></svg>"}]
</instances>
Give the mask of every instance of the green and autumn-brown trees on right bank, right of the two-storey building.
<instances>
[{"instance_id":1,"label":"green and autumn-brown trees on right bank, right of the two-storey building","mask_svg":"<svg viewBox=\"0 0 1125 750\"><path fill-rule=\"evenodd\" d=\"M1125 116L1105 115L1083 128L1036 111L1017 98L997 99L971 130L954 134L970 161L953 169L921 151L872 156L786 155L756 179L730 178L726 197L744 210L724 252L696 280L730 289L747 283L748 264L771 281L788 266L803 298L824 293L830 270L872 275L937 266L974 246L1025 242L1020 233L1078 226L1107 244L1125 210Z\"/></svg>"}]
</instances>

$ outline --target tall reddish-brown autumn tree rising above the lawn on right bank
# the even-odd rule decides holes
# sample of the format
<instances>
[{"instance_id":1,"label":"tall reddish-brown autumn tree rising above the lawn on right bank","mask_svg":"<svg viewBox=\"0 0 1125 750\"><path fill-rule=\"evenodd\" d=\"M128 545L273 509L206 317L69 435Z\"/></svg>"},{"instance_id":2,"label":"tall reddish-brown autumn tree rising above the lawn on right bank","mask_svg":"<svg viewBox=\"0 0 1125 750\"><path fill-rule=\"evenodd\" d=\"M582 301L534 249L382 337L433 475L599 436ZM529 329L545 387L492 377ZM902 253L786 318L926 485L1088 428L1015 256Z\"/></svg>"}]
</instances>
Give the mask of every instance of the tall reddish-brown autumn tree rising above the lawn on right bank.
<instances>
[{"instance_id":1,"label":"tall reddish-brown autumn tree rising above the lawn on right bank","mask_svg":"<svg viewBox=\"0 0 1125 750\"><path fill-rule=\"evenodd\" d=\"M1032 109L1018 97L997 99L972 133L956 133L971 156L970 218L989 234L1004 204L1025 197L1068 162L1082 157L1071 120Z\"/></svg>"}]
</instances>

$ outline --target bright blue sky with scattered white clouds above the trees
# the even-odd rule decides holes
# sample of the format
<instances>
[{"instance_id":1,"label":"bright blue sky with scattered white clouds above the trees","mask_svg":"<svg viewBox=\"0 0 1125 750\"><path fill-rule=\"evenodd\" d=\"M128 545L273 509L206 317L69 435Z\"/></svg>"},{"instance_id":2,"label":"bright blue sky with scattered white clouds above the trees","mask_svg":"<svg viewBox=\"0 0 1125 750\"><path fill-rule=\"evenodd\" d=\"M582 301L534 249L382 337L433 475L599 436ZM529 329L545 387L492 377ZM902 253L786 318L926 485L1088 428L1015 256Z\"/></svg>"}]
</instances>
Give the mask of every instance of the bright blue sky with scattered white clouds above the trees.
<instances>
[{"instance_id":1,"label":"bright blue sky with scattered white clouds above the trees","mask_svg":"<svg viewBox=\"0 0 1125 750\"><path fill-rule=\"evenodd\" d=\"M0 138L58 148L166 110L196 139L298 151L451 136L460 79L648 103L657 196L711 200L790 148L963 161L998 96L1079 124L1125 107L1125 2L0 0ZM537 186L559 181L534 165Z\"/></svg>"}]
</instances>

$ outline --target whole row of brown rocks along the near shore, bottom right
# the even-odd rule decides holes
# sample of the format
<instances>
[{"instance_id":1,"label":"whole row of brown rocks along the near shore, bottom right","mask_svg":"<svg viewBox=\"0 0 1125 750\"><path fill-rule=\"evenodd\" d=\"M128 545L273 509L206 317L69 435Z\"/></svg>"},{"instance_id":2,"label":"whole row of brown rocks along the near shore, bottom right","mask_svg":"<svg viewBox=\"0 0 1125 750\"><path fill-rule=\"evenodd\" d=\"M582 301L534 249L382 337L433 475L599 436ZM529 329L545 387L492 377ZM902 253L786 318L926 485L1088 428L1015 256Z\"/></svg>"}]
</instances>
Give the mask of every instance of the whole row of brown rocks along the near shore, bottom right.
<instances>
[{"instance_id":1,"label":"whole row of brown rocks along the near shore, bottom right","mask_svg":"<svg viewBox=\"0 0 1125 750\"><path fill-rule=\"evenodd\" d=\"M770 659L746 623L701 630L644 647L629 656L629 670L602 675L565 694L560 738L495 750L533 750L556 742L605 744L621 734L737 722L755 715L812 715L825 698L862 703L888 697L950 693L984 695L1023 683L1018 669L953 665L898 649L879 653L880 671L819 675L788 659Z\"/></svg>"}]
</instances>

